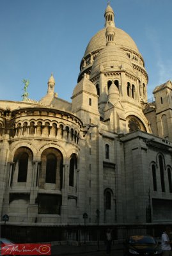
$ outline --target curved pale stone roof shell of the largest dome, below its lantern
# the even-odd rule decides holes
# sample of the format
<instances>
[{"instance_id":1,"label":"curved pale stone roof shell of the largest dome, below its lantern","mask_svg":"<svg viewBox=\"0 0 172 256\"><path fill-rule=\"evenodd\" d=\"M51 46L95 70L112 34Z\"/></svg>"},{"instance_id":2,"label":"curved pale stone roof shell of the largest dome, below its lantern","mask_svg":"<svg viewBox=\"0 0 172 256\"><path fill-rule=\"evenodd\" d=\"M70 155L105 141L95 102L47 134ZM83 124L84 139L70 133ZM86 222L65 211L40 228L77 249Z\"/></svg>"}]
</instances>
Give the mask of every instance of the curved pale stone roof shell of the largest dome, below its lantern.
<instances>
[{"instance_id":1,"label":"curved pale stone roof shell of the largest dome, below its lantern","mask_svg":"<svg viewBox=\"0 0 172 256\"><path fill-rule=\"evenodd\" d=\"M115 43L117 47L127 48L139 52L134 40L132 40L132 38L125 31L120 28L114 28L114 32ZM102 49L104 47L106 47L106 28L98 31L98 33L91 38L88 46L86 47L84 56L88 55L90 52L97 51L98 49Z\"/></svg>"}]
</instances>

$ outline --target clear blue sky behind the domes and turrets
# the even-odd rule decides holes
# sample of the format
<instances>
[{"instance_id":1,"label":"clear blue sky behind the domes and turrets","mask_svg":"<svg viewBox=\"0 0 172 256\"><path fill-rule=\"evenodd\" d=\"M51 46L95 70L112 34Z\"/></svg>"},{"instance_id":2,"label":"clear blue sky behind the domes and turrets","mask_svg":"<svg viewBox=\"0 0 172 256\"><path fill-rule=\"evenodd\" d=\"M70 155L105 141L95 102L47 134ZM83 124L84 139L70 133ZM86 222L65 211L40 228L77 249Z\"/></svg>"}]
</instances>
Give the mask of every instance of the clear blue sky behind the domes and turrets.
<instances>
[{"instance_id":1,"label":"clear blue sky behind the domes and turrets","mask_svg":"<svg viewBox=\"0 0 172 256\"><path fill-rule=\"evenodd\" d=\"M111 0L116 27L136 42L155 86L172 80L172 1ZM91 37L104 28L107 0L1 0L0 99L40 100L54 74L58 97L71 101Z\"/></svg>"}]
</instances>

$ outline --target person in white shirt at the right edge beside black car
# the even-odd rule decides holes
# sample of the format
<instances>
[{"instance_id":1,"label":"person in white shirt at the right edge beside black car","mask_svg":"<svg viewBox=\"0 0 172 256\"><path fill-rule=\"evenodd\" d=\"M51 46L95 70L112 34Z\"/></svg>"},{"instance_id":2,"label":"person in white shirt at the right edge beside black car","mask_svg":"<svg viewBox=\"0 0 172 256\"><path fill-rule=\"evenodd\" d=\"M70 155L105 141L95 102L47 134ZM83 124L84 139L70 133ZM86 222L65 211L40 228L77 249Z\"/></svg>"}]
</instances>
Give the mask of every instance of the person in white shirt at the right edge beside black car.
<instances>
[{"instance_id":1,"label":"person in white shirt at the right edge beside black car","mask_svg":"<svg viewBox=\"0 0 172 256\"><path fill-rule=\"evenodd\" d=\"M162 248L162 255L163 256L172 256L172 251L171 251L171 243L169 239L169 234L171 232L170 227L166 227L165 231L162 234L162 239L161 239L161 248Z\"/></svg>"}]
</instances>

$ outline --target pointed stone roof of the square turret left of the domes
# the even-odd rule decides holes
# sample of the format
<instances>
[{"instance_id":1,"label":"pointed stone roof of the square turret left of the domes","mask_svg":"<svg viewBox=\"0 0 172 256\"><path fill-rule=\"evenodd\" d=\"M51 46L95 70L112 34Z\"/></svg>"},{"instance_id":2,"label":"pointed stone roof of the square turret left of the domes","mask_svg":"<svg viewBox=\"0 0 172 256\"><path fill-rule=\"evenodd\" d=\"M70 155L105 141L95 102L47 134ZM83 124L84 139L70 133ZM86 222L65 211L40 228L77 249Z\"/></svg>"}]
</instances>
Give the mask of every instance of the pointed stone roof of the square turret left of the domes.
<instances>
[{"instance_id":1,"label":"pointed stone roof of the square turret left of the domes","mask_svg":"<svg viewBox=\"0 0 172 256\"><path fill-rule=\"evenodd\" d=\"M75 86L72 97L74 97L74 95L77 95L82 91L91 92L97 95L95 84L93 84L90 80L88 80L88 78L86 77L86 74L84 74L84 77L82 78L82 80Z\"/></svg>"}]
</instances>

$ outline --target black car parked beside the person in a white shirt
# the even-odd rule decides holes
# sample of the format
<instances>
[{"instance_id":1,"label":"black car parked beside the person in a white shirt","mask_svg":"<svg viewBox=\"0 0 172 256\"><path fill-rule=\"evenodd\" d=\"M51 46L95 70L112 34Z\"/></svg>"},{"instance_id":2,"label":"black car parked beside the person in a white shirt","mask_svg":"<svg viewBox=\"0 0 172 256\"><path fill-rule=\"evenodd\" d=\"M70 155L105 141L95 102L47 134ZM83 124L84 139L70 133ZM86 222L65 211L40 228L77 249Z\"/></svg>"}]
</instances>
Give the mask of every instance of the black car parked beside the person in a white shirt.
<instances>
[{"instance_id":1,"label":"black car parked beside the person in a white shirt","mask_svg":"<svg viewBox=\"0 0 172 256\"><path fill-rule=\"evenodd\" d=\"M123 255L160 256L160 245L152 236L130 236L123 243Z\"/></svg>"}]
</instances>

